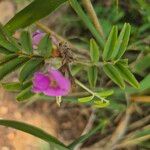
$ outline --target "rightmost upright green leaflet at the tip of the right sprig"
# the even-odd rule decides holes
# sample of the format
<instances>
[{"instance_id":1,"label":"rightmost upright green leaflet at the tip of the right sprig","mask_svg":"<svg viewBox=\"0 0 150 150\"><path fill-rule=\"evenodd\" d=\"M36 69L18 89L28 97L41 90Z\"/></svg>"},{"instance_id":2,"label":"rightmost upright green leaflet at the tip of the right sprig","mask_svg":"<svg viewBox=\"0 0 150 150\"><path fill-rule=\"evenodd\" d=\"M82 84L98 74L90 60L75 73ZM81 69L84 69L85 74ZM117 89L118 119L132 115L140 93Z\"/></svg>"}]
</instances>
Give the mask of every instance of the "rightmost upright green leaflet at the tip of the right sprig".
<instances>
[{"instance_id":1,"label":"rightmost upright green leaflet at the tip of the right sprig","mask_svg":"<svg viewBox=\"0 0 150 150\"><path fill-rule=\"evenodd\" d=\"M118 37L118 40L115 43L115 48L111 55L111 59L117 60L124 54L129 42L130 31L131 31L131 26L128 23L125 23Z\"/></svg>"}]
</instances>

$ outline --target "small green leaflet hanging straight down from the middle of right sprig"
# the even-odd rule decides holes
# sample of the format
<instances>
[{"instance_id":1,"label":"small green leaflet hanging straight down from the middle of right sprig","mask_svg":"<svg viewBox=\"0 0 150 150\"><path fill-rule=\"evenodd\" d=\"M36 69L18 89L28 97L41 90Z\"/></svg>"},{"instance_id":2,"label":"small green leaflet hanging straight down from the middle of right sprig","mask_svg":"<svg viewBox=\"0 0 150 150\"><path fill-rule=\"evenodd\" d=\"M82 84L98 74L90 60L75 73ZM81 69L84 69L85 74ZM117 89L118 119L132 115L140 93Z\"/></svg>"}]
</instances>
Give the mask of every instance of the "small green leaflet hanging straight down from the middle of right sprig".
<instances>
[{"instance_id":1,"label":"small green leaflet hanging straight down from the middle of right sprig","mask_svg":"<svg viewBox=\"0 0 150 150\"><path fill-rule=\"evenodd\" d=\"M91 87L96 86L97 76L98 76L97 67L93 66L93 67L88 68L88 80L89 80Z\"/></svg>"}]
</instances>

